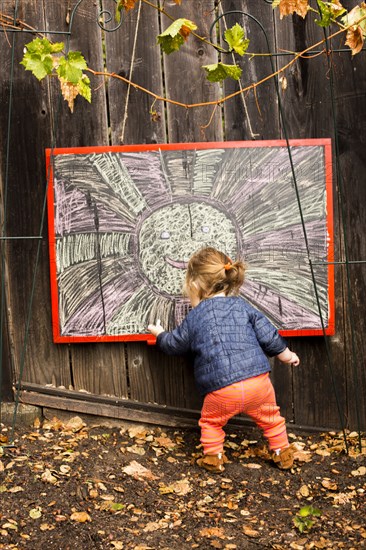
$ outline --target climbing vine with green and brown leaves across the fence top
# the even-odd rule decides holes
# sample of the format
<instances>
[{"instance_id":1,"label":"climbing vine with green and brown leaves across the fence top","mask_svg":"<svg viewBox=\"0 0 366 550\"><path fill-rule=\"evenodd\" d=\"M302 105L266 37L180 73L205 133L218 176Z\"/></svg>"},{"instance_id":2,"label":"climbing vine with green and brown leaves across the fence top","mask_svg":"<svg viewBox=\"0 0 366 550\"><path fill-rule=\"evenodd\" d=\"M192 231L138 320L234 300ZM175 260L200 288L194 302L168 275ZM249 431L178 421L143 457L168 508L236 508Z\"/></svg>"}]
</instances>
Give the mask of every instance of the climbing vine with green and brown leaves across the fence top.
<instances>
[{"instance_id":1,"label":"climbing vine with green and brown leaves across the fence top","mask_svg":"<svg viewBox=\"0 0 366 550\"><path fill-rule=\"evenodd\" d=\"M181 4L182 1L184 2L184 0L174 0L176 4ZM133 10L137 2L138 0L118 0L115 15L116 20L120 20L121 12ZM248 52L248 47L250 44L249 39L245 36L244 28L238 23L225 31L224 40L226 43L226 49L224 49L222 46L213 44L207 38L197 34L196 31L198 29L198 25L195 22L185 18L174 19L174 17L168 14L164 8L153 4L149 0L142 0L142 2L159 10L172 21L172 23L157 36L157 44L160 45L161 50L167 55L179 51L189 39L191 34L214 47L219 52L233 53L239 57L243 57L244 55L260 55ZM352 55L359 53L363 48L366 36L366 3L361 2L360 5L355 6L350 11L347 11L339 0L333 0L332 2L317 0L317 5L318 10L315 10L309 5L309 0L272 1L273 9L279 10L280 19L294 13L302 18L307 17L309 13L315 13L316 17L314 18L314 22L320 27L326 28L331 25L336 25L338 30L331 34L329 38L340 33L344 33L346 35L345 45L351 49ZM319 46L323 42L324 41L320 41L317 44L312 45L311 48L314 46ZM304 50L304 52L294 53L294 57L290 63L288 63L285 67L282 67L282 69L276 73L270 75L268 78L272 78L276 74L279 74L285 70L285 68L294 63L298 57L304 55L304 53L308 50L310 50L310 48ZM73 111L74 101L78 95L81 95L89 102L91 101L90 79L85 74L86 72L90 72L94 75L103 74L108 77L117 77L115 74L107 72L98 73L93 71L93 69L88 67L81 52L65 52L63 42L52 43L47 38L37 37L32 42L29 42L25 47L25 53L21 64L26 70L31 71L38 80L42 80L47 76L56 76L60 82L62 95L68 102L71 111ZM210 82L222 82L226 78L239 80L242 76L242 69L236 63L225 64L219 61L218 63L204 65L202 68L206 72L206 78ZM268 80L268 78L264 80ZM230 96L217 100L216 102L184 105L179 102L160 97L149 90L143 89L138 84L130 82L128 79L122 78L122 80L133 85L137 89L149 93L155 98L155 100L170 101L171 103L183 105L184 107L219 104L226 101L230 97L233 97L233 95L236 95L235 93L231 94ZM255 88L258 84L260 83L252 84L248 89ZM242 91L243 90L241 90L241 92Z\"/></svg>"}]
</instances>

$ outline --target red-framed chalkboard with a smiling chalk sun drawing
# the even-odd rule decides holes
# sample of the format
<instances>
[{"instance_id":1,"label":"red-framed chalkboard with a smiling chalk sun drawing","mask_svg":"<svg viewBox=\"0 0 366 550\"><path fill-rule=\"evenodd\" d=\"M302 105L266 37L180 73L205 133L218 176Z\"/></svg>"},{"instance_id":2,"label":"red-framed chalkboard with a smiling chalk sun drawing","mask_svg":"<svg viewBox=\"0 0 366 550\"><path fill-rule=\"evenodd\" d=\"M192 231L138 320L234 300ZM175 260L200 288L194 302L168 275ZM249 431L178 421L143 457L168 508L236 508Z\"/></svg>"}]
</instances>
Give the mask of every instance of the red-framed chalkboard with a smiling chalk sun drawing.
<instances>
[{"instance_id":1,"label":"red-framed chalkboard with a smiling chalk sun drawing","mask_svg":"<svg viewBox=\"0 0 366 550\"><path fill-rule=\"evenodd\" d=\"M245 261L243 297L282 334L333 334L331 142L290 151L282 140L47 150L54 341L151 342L150 322L171 329L187 314L187 261L207 245Z\"/></svg>"}]
</instances>

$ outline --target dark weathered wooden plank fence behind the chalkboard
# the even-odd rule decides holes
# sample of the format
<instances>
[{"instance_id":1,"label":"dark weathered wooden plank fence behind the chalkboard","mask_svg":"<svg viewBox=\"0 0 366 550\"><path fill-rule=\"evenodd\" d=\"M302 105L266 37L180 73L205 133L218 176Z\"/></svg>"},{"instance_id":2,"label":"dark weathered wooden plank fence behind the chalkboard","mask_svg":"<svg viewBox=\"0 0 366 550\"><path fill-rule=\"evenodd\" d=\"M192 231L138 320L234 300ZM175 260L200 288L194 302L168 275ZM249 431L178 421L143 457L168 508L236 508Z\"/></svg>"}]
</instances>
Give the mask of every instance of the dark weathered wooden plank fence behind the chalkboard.
<instances>
[{"instance_id":1,"label":"dark weathered wooden plank fence behind the chalkboard","mask_svg":"<svg viewBox=\"0 0 366 550\"><path fill-rule=\"evenodd\" d=\"M166 3L175 18L199 24L209 36L215 19L213 0ZM347 8L356 2L343 2ZM238 90L238 83L211 84L202 65L217 62L217 52L191 36L181 52L162 55L156 36L169 20L137 2L119 30L97 24L100 10L115 2L4 0L1 9L53 40L66 40L73 15L70 47L95 71L131 78L147 90L185 104L215 101ZM73 8L77 10L73 13ZM279 20L265 0L222 0L220 19L239 22L250 51L267 53L265 30L276 67L324 38L310 15ZM221 13L221 12L220 12ZM104 17L105 18L105 17ZM114 25L112 21L109 26ZM216 30L216 27L214 27ZM283 73L280 100L274 79L255 91L236 95L218 107L182 108L153 98L116 78L90 75L92 102L77 98L74 113L60 98L56 79L38 82L19 64L27 32L0 32L0 213L2 214L2 369L21 388L20 400L44 407L172 425L196 423L200 398L192 369L184 359L162 355L145 343L54 344L45 223L45 148L116 144L332 138L336 333L332 337L292 338L302 363L297 369L273 364L278 400L289 422L306 427L366 427L366 63L365 53L323 53L299 58ZM217 37L214 37L216 40ZM328 43L343 49L344 36ZM225 62L230 63L230 56ZM242 86L272 73L267 56L241 61ZM156 111L151 116L151 111ZM337 145L338 144L338 145ZM4 219L5 218L5 219ZM350 263L346 264L345 260ZM355 262L355 263L352 263ZM6 389L4 390L6 394Z\"/></svg>"}]
</instances>

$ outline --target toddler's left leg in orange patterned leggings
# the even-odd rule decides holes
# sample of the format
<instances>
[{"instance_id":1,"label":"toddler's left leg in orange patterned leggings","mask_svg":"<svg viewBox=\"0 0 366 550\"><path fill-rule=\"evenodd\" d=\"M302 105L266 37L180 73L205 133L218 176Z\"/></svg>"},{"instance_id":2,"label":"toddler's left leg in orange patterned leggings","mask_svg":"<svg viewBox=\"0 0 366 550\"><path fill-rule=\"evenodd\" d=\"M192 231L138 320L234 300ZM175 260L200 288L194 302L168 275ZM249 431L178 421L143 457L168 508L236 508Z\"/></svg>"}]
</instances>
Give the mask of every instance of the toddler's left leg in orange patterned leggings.
<instances>
[{"instance_id":1,"label":"toddler's left leg in orange patterned leggings","mask_svg":"<svg viewBox=\"0 0 366 550\"><path fill-rule=\"evenodd\" d=\"M224 450L223 427L230 418L241 412L242 399L237 384L206 395L199 426L204 454L219 454Z\"/></svg>"}]
</instances>

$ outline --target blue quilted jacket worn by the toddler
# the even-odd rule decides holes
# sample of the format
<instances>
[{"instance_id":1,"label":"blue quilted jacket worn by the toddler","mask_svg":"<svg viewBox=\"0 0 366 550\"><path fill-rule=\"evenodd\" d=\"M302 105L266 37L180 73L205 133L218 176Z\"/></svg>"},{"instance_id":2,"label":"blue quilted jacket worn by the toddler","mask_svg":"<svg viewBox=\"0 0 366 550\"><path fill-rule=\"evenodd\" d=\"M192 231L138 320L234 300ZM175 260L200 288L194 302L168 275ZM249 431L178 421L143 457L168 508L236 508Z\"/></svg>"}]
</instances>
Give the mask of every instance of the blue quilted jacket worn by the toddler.
<instances>
[{"instance_id":1,"label":"blue quilted jacket worn by the toddler","mask_svg":"<svg viewBox=\"0 0 366 550\"><path fill-rule=\"evenodd\" d=\"M202 395L269 372L266 355L287 347L267 317L238 296L203 300L176 329L159 334L157 344L169 355L193 352Z\"/></svg>"}]
</instances>

